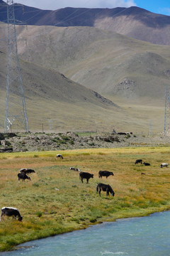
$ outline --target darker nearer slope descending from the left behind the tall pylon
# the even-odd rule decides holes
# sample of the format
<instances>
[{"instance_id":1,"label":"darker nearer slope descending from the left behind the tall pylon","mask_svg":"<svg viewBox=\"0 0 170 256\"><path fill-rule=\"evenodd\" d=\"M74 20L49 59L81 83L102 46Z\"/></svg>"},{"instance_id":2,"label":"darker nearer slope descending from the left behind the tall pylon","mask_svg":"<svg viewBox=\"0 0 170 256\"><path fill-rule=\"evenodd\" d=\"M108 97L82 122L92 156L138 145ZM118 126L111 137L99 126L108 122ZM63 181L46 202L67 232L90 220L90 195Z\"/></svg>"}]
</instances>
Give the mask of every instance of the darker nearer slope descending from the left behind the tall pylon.
<instances>
[{"instance_id":1,"label":"darker nearer slope descending from the left behind the tall pylon","mask_svg":"<svg viewBox=\"0 0 170 256\"><path fill-rule=\"evenodd\" d=\"M0 128L4 127L6 100L7 56L0 51ZM103 127L109 123L108 114L118 107L97 92L69 80L55 70L48 70L21 60L21 72L31 131L44 129L92 129L95 122L102 120ZM13 99L18 98L17 93ZM108 120L107 120L108 119ZM52 122L52 124L51 124ZM111 124L109 124L110 126ZM71 128L70 128L71 127ZM13 131L18 129L13 123Z\"/></svg>"}]
</instances>

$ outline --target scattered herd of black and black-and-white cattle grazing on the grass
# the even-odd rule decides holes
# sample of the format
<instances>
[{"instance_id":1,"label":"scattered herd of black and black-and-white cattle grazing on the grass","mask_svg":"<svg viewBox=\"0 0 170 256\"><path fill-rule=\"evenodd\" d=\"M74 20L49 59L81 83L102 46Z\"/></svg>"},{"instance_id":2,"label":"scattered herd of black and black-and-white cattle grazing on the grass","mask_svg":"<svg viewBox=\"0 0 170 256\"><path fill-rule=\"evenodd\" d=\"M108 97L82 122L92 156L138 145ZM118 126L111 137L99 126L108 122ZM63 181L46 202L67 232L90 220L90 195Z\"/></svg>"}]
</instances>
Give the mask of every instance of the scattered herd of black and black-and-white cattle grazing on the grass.
<instances>
[{"instance_id":1,"label":"scattered herd of black and black-and-white cattle grazing on the grass","mask_svg":"<svg viewBox=\"0 0 170 256\"><path fill-rule=\"evenodd\" d=\"M57 158L63 159L62 154L57 154L56 159ZM135 161L135 164L144 164L145 166L150 166L149 163L146 163L146 162L142 163L142 159L137 159ZM169 164L167 164L167 163L162 163L159 167L161 167L161 168L168 167L168 165ZM94 178L94 174L80 171L80 169L78 169L78 168L70 167L69 169L73 170L73 171L79 171L79 178L81 179L82 183L83 183L84 179L86 179L86 183L89 183L89 178ZM28 176L28 174L32 174L32 173L35 173L35 171L33 169L21 169L20 172L18 173L18 181L20 181L20 180L25 181L26 179L31 180L31 178L30 178L30 176ZM142 174L144 174L144 173L142 173ZM98 171L98 178L102 178L103 176L108 178L108 176L114 176L114 174L112 171ZM109 193L111 193L111 196L115 195L115 192L113 191L113 189L111 188L111 186L109 184L98 183L98 185L96 186L96 191L99 193L100 196L101 196L101 191L106 191L106 196L109 196ZM21 214L17 208L13 208L13 207L1 208L0 221L1 221L1 219L4 218L4 215L13 216L13 218L18 217L19 221L23 220L23 217L21 216Z\"/></svg>"}]
</instances>

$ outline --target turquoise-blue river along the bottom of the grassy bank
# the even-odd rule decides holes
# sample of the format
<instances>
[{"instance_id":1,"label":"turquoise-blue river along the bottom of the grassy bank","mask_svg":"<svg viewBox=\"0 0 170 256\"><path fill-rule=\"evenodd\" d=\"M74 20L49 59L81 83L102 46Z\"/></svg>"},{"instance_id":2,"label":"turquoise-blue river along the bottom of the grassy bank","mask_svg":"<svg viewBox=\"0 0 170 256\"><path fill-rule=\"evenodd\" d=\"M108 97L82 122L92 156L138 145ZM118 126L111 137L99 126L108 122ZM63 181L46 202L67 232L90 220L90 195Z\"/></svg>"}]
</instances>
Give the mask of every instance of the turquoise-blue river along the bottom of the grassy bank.
<instances>
[{"instance_id":1,"label":"turquoise-blue river along the bottom of the grassy bank","mask_svg":"<svg viewBox=\"0 0 170 256\"><path fill-rule=\"evenodd\" d=\"M34 240L1 256L170 256L170 211Z\"/></svg>"}]
</instances>

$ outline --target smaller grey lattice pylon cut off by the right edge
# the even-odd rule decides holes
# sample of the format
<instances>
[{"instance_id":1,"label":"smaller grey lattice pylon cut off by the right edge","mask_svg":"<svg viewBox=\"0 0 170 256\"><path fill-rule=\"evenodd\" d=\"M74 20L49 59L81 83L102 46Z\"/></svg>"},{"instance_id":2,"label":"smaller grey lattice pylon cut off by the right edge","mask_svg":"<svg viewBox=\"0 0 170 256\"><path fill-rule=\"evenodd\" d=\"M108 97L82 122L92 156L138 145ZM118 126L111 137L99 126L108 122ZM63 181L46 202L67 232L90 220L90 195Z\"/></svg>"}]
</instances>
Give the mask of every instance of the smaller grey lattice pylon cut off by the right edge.
<instances>
[{"instance_id":1,"label":"smaller grey lattice pylon cut off by the right edge","mask_svg":"<svg viewBox=\"0 0 170 256\"><path fill-rule=\"evenodd\" d=\"M164 111L164 135L170 135L170 101L169 101L169 89L166 85L165 90L165 111Z\"/></svg>"}]
</instances>

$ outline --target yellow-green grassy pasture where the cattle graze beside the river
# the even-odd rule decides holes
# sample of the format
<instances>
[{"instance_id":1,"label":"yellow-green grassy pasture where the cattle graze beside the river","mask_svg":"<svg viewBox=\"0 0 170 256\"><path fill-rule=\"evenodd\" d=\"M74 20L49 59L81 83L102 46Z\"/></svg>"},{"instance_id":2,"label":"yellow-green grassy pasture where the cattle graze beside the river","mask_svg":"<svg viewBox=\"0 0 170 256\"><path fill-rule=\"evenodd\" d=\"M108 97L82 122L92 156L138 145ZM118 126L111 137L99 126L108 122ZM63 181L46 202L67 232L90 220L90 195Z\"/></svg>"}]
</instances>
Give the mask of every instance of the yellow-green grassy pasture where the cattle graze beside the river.
<instances>
[{"instance_id":1,"label":"yellow-green grassy pasture where the cattle graze beside the river","mask_svg":"<svg viewBox=\"0 0 170 256\"><path fill-rule=\"evenodd\" d=\"M64 159L55 159L55 154ZM148 215L170 208L169 146L121 149L77 149L0 154L0 207L20 210L23 222L5 218L0 223L0 250L12 250L28 240L86 228L102 221ZM151 166L135 165L143 159ZM81 183L79 172L94 174ZM35 169L31 181L18 183L21 168ZM114 176L98 178L98 171ZM141 175L141 173L145 175ZM109 183L115 196L96 193L98 182Z\"/></svg>"}]
</instances>

